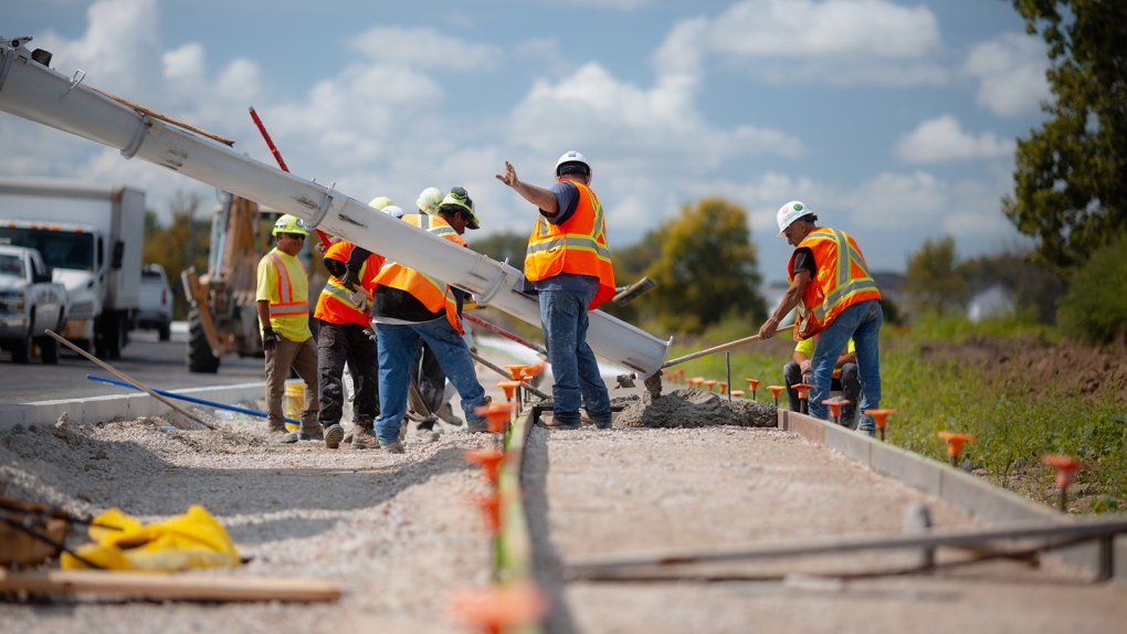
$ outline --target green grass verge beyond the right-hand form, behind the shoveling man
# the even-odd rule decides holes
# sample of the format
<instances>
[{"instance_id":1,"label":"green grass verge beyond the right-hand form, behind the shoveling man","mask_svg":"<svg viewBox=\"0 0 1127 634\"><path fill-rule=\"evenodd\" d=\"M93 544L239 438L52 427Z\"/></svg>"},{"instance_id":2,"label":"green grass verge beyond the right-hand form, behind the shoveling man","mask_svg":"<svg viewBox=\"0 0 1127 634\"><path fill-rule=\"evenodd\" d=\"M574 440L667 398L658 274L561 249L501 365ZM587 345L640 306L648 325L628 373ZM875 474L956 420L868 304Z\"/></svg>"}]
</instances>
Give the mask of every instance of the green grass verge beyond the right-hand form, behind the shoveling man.
<instances>
[{"instance_id":1,"label":"green grass verge beyond the right-hand form, behind the shoveling man","mask_svg":"<svg viewBox=\"0 0 1127 634\"><path fill-rule=\"evenodd\" d=\"M1030 390L1020 374L983 373L973 365L924 358L920 341L961 341L971 334L1055 334L1027 320L1009 319L971 324L952 318L925 318L912 331L881 332L882 408L889 419L887 441L937 461L948 462L941 430L973 434L962 461L991 482L1049 506L1058 502L1051 467L1045 454L1068 454L1085 462L1070 491L1072 512L1127 509L1127 402L1125 377L1112 376L1094 395L1082 398L1066 381ZM721 324L699 340L674 345L669 358L754 333L746 323ZM788 356L740 350L730 354L731 378L746 390L744 377L761 381L756 400L771 403L767 385L782 385ZM719 352L677 366L685 376L725 381L725 355ZM1019 373L1020 368L1014 368ZM749 394L745 398L749 398ZM786 408L786 396L780 401Z\"/></svg>"}]
</instances>

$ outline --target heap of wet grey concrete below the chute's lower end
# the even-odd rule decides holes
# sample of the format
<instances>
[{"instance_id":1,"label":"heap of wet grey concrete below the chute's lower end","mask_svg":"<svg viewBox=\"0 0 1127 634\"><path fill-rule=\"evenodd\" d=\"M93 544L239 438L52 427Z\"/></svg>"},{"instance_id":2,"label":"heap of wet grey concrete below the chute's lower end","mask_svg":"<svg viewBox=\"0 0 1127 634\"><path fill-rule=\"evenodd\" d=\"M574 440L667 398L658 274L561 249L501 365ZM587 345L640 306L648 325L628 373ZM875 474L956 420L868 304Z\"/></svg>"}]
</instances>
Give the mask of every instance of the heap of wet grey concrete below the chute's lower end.
<instances>
[{"instance_id":1,"label":"heap of wet grey concrete below the chute's lower end","mask_svg":"<svg viewBox=\"0 0 1127 634\"><path fill-rule=\"evenodd\" d=\"M615 399L615 401L620 401ZM623 409L615 417L620 427L774 427L779 410L774 405L735 399L715 392L683 387L664 396L624 396Z\"/></svg>"}]
</instances>

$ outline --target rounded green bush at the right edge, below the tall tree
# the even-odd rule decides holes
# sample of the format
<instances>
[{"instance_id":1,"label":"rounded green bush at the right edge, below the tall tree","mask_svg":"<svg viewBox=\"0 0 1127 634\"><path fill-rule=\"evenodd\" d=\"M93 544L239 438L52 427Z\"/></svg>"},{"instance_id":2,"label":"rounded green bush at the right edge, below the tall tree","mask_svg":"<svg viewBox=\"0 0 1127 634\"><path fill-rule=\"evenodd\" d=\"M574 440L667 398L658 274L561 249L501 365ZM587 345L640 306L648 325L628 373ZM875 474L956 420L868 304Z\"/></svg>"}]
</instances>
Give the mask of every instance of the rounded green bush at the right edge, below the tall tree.
<instances>
[{"instance_id":1,"label":"rounded green bush at the right edge, below the tall tree","mask_svg":"<svg viewBox=\"0 0 1127 634\"><path fill-rule=\"evenodd\" d=\"M1127 332L1127 235L1101 247L1072 275L1057 311L1063 333L1102 345Z\"/></svg>"}]
</instances>

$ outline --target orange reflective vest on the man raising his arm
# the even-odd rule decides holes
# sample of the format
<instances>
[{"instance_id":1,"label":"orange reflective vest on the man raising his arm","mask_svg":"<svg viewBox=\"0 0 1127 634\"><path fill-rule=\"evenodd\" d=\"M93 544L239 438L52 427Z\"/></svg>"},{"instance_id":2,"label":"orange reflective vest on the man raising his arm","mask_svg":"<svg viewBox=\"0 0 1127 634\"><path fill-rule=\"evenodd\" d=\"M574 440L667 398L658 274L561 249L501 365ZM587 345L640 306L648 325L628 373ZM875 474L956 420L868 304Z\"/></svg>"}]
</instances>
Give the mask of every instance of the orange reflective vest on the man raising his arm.
<instances>
[{"instance_id":1,"label":"orange reflective vest on the man raising his arm","mask_svg":"<svg viewBox=\"0 0 1127 634\"><path fill-rule=\"evenodd\" d=\"M588 306L594 310L614 296L606 222L595 193L582 182L571 184L579 190L575 213L562 224L552 224L543 215L536 218L524 256L524 277L532 282L560 273L597 277L598 291Z\"/></svg>"}]
</instances>

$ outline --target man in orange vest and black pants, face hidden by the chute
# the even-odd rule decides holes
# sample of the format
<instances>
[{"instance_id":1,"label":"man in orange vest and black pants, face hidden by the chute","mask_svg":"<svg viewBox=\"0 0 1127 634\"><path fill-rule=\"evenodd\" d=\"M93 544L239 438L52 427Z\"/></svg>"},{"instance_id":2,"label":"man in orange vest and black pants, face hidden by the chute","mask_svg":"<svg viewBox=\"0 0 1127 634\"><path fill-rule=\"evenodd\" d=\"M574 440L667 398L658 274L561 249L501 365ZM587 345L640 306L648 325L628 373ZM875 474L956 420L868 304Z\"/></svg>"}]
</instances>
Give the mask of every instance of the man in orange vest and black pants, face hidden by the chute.
<instances>
[{"instance_id":1,"label":"man in orange vest and black pants, face hidden by the chute","mask_svg":"<svg viewBox=\"0 0 1127 634\"><path fill-rule=\"evenodd\" d=\"M380 204L372 200L373 207ZM403 211L394 205L384 205L381 211L392 217L401 217ZM345 288L340 278L347 271L348 256L354 244L340 241L332 244L325 255L325 268L331 277L317 301L313 318L320 323L317 339L318 379L321 385L320 423L325 432L325 446L336 449L344 439L340 427L344 413L345 386L344 368L348 365L355 389L353 401L353 423L358 429L353 440L372 429L380 414L380 390L376 378L379 357L372 332L371 302L365 297L361 306L352 302L355 288ZM383 257L371 253L360 270L361 286L365 295L375 291L375 275L383 266ZM373 437L374 438L374 437ZM363 445L360 445L363 446Z\"/></svg>"}]
</instances>

